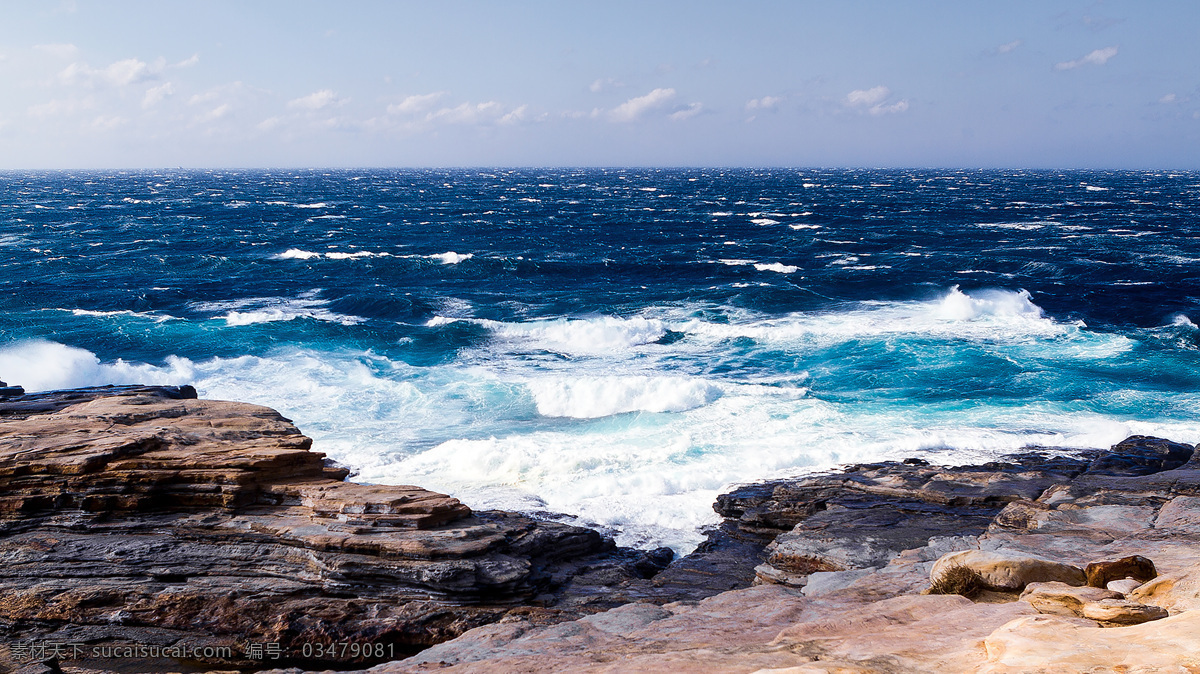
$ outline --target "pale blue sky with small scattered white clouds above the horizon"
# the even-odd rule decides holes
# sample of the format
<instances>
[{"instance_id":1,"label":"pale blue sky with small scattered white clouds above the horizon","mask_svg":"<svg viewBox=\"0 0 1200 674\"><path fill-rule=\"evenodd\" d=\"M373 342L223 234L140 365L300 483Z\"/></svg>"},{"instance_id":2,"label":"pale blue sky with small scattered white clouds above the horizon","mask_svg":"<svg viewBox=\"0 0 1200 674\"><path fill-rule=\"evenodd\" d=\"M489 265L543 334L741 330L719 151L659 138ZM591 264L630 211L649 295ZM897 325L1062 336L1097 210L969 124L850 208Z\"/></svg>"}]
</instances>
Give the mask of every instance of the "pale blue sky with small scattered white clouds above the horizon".
<instances>
[{"instance_id":1,"label":"pale blue sky with small scattered white clouds above the horizon","mask_svg":"<svg viewBox=\"0 0 1200 674\"><path fill-rule=\"evenodd\" d=\"M1200 169L1200 2L0 0L0 169Z\"/></svg>"}]
</instances>

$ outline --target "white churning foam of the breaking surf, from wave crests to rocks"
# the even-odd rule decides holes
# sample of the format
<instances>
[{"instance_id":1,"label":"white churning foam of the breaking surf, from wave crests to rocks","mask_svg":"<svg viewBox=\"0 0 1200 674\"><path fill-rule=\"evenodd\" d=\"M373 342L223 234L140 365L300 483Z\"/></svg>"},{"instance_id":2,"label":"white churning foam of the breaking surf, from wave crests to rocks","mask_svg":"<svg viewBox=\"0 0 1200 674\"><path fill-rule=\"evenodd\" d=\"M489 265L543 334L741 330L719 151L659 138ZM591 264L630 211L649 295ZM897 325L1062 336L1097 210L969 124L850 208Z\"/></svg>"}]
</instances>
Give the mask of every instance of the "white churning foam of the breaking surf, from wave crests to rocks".
<instances>
[{"instance_id":1,"label":"white churning foam of the breaking surf, from wave crests to rocks","mask_svg":"<svg viewBox=\"0 0 1200 674\"><path fill-rule=\"evenodd\" d=\"M989 305L976 297L978 293L965 295L974 299L968 302L973 308L956 308L955 319L934 315L943 300L853 308L847 312L853 319L844 325L857 321L858 327L844 338L876 333L883 315L910 321L910 331L938 320L960 327L997 317L1049 320L1030 318L1020 301ZM1018 308L998 306L1006 303ZM684 309L664 311L672 312ZM683 318L664 320L683 327ZM808 318L811 336L830 317ZM732 319L744 325L727 325L731 333L757 326L774 338L805 320L794 315L770 324L780 319L750 313ZM625 333L641 324L605 318L575 323L592 326L576 325L576 331L618 326ZM521 331L521 324L496 325L499 331ZM510 349L529 344L498 333L481 347L486 359L438 367L413 367L370 353L304 349L196 362L102 362L83 349L23 342L0 349L0 373L30 391L190 383L204 397L278 409L316 440L317 451L354 467L355 480L419 483L472 507L570 513L617 530L623 544L670 544L680 552L700 542L702 526L716 522L713 499L733 483L913 455L955 462L990 459L1034 444L1102 447L1135 433L1200 441L1200 395L1181 395L1174 402L1198 414L1148 422L1039 401L1016 408L830 402L780 378L742 384L665 372L671 357L710 348L704 335L720 325L697 320L697 332L667 347L646 343L644 335L625 339L631 348L599 350L576 361L528 360ZM542 338L546 327L522 333ZM1102 336L1091 339L1103 342ZM1038 359L1062 357L1076 342L1044 339ZM1022 341L1021 348L1028 344ZM647 369L643 361L655 353L668 360L652 357ZM1121 409L1152 407L1159 396L1122 395L1128 399L1115 401ZM637 411L656 414L613 416ZM530 425L534 419L540 421Z\"/></svg>"}]
</instances>

